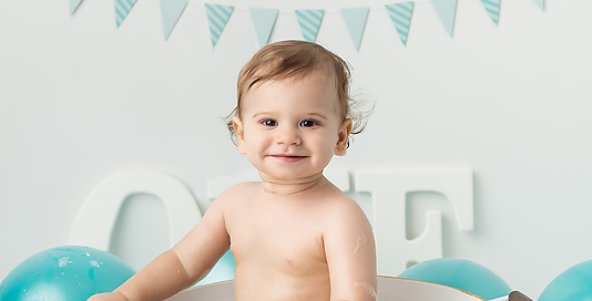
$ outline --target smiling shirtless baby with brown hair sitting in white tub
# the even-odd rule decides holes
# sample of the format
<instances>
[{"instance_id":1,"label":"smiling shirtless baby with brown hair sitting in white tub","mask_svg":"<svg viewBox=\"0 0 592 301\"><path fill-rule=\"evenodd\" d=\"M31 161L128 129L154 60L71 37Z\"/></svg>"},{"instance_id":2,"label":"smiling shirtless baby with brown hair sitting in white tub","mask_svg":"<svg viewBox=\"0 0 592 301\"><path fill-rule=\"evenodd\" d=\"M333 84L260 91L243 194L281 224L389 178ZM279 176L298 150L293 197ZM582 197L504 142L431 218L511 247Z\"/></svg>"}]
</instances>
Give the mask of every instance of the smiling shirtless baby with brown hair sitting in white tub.
<instances>
[{"instance_id":1,"label":"smiling shirtless baby with brown hair sitting in white tub","mask_svg":"<svg viewBox=\"0 0 592 301\"><path fill-rule=\"evenodd\" d=\"M370 224L323 175L364 127L351 104L339 56L303 41L261 49L241 71L227 125L262 181L228 188L171 250L89 301L166 299L203 279L228 249L237 301L376 300Z\"/></svg>"}]
</instances>

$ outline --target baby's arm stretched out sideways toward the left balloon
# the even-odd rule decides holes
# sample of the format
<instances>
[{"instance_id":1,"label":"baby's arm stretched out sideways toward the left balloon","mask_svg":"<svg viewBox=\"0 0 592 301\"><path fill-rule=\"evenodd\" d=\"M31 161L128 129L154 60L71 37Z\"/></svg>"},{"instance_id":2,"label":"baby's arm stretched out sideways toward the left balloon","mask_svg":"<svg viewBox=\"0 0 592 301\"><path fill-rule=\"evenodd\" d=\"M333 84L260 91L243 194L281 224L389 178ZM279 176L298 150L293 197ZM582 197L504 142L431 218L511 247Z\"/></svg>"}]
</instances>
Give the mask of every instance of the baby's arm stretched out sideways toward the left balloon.
<instances>
[{"instance_id":1,"label":"baby's arm stretched out sideways toward the left balloon","mask_svg":"<svg viewBox=\"0 0 592 301\"><path fill-rule=\"evenodd\" d=\"M202 280L231 245L221 198L172 249L156 257L112 293L96 294L89 301L164 300Z\"/></svg>"}]
</instances>

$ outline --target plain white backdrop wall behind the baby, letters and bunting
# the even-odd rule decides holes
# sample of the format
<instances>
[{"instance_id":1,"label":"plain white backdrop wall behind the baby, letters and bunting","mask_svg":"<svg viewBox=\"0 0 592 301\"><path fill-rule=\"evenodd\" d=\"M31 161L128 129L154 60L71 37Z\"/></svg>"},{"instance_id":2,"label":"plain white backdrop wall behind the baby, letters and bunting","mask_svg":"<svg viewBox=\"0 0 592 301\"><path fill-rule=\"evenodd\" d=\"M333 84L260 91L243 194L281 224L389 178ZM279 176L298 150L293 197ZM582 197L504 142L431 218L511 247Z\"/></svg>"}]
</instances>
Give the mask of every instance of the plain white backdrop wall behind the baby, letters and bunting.
<instances>
[{"instance_id":1,"label":"plain white backdrop wall behind the baby, letters and bunting","mask_svg":"<svg viewBox=\"0 0 592 301\"><path fill-rule=\"evenodd\" d=\"M216 3L236 8L212 49L202 1L166 42L157 0L137 1L119 29L113 1L84 0L74 15L65 0L0 1L0 279L67 245L83 200L113 174L167 173L204 210L208 178L252 168L220 118L258 49L248 7L282 10L271 42L302 39L290 10L326 9L317 42L354 65L355 91L377 103L331 166L473 170L474 231L457 231L443 198L419 194L428 201L411 206L411 236L425 208L442 208L445 256L532 298L592 259L591 1L547 0L542 12L502 0L496 27L479 0L459 0L453 39L418 1L407 46L380 9L389 1ZM338 10L359 6L372 9L356 52ZM135 200L115 240L152 258L166 247L166 217L157 199Z\"/></svg>"}]
</instances>

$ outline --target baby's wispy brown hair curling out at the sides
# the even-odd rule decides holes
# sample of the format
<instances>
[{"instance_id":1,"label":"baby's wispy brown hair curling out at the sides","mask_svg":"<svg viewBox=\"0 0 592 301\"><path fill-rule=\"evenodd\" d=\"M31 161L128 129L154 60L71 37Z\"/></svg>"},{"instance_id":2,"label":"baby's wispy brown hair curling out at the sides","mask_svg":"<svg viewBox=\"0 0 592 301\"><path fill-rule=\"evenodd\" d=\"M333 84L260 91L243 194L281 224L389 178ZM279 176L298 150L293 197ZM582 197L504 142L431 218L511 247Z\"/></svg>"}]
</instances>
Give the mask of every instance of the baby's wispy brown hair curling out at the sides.
<instances>
[{"instance_id":1,"label":"baby's wispy brown hair curling out at the sides","mask_svg":"<svg viewBox=\"0 0 592 301\"><path fill-rule=\"evenodd\" d=\"M241 116L243 97L249 89L266 81L302 79L314 71L325 71L334 77L339 100L339 115L343 121L351 118L351 135L361 133L371 108L368 112L361 112L360 103L350 97L351 77L347 62L319 44L289 40L262 48L241 70L236 107L225 118L233 143L236 144L236 133L232 118Z\"/></svg>"}]
</instances>

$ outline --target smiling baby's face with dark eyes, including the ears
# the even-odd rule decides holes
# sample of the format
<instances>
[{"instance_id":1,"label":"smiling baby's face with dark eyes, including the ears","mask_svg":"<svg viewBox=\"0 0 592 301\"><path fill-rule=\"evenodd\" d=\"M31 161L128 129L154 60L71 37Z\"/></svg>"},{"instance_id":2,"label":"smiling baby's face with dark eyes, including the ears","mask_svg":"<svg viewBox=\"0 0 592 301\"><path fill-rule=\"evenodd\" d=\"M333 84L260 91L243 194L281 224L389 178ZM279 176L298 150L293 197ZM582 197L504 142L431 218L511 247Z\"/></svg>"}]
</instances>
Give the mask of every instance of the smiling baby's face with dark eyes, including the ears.
<instances>
[{"instance_id":1,"label":"smiling baby's face with dark eyes, including the ears","mask_svg":"<svg viewBox=\"0 0 592 301\"><path fill-rule=\"evenodd\" d=\"M345 155L351 121L341 121L333 79L314 72L303 79L269 81L243 98L234 125L238 150L268 178L317 175L334 154Z\"/></svg>"}]
</instances>

